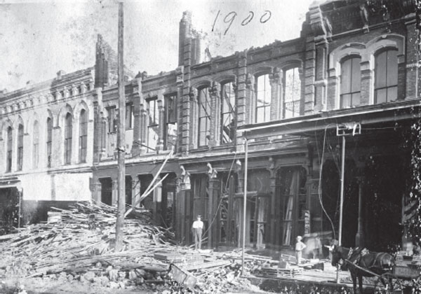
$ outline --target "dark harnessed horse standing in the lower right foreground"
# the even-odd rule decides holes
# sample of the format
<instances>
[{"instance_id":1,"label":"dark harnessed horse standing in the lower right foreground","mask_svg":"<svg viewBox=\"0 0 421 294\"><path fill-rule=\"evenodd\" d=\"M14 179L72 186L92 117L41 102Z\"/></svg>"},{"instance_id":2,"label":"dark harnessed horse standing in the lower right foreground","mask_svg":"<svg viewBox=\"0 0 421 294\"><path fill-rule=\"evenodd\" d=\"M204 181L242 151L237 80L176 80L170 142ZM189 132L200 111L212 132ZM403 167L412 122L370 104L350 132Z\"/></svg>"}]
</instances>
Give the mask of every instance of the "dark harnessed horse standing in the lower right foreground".
<instances>
[{"instance_id":1,"label":"dark harnessed horse standing in the lower right foreground","mask_svg":"<svg viewBox=\"0 0 421 294\"><path fill-rule=\"evenodd\" d=\"M356 278L359 281L359 293L363 293L363 276L374 276L370 274L373 272L377 275L382 275L387 272L392 272L395 265L394 258L389 253L366 253L363 248L345 248L342 246L335 246L332 251L332 265L335 267L340 264L342 260L341 269L349 270L351 274L352 283L354 286L354 293L356 293ZM356 266L358 267L356 267ZM367 269L369 272L360 269ZM383 285L386 286L386 281L381 279ZM389 281L392 285L392 281Z\"/></svg>"}]
</instances>

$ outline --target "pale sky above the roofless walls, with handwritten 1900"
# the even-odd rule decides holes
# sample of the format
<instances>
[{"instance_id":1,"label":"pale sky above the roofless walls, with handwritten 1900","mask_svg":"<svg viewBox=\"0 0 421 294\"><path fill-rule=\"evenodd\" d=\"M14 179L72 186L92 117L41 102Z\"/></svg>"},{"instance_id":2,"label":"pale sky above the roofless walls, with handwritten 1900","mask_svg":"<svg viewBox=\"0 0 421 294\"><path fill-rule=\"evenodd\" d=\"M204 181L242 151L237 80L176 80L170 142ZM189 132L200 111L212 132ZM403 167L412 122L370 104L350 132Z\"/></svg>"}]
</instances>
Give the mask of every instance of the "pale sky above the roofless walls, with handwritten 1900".
<instances>
[{"instance_id":1,"label":"pale sky above the roofless walls, with handwritten 1900","mask_svg":"<svg viewBox=\"0 0 421 294\"><path fill-rule=\"evenodd\" d=\"M210 55L298 38L314 0L125 0L124 63L149 75L178 66L185 10ZM116 0L0 0L0 90L25 87L95 64L97 34L115 51Z\"/></svg>"}]
</instances>

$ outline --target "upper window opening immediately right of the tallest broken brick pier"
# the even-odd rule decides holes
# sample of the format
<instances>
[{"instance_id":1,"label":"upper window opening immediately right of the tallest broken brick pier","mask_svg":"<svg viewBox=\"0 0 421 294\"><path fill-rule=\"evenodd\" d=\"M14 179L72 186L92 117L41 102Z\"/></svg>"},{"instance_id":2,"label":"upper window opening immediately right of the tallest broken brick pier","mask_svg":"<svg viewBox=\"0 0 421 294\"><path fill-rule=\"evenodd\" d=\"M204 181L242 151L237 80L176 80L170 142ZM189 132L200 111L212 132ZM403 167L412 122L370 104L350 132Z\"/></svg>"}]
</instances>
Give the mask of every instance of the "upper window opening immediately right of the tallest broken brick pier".
<instances>
[{"instance_id":1,"label":"upper window opening immediately right of the tallest broken brick pier","mask_svg":"<svg viewBox=\"0 0 421 294\"><path fill-rule=\"evenodd\" d=\"M197 95L199 106L198 146L207 146L210 135L210 97L209 88L202 87Z\"/></svg>"}]
</instances>

